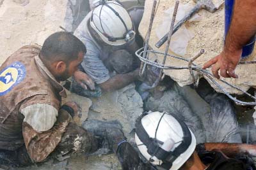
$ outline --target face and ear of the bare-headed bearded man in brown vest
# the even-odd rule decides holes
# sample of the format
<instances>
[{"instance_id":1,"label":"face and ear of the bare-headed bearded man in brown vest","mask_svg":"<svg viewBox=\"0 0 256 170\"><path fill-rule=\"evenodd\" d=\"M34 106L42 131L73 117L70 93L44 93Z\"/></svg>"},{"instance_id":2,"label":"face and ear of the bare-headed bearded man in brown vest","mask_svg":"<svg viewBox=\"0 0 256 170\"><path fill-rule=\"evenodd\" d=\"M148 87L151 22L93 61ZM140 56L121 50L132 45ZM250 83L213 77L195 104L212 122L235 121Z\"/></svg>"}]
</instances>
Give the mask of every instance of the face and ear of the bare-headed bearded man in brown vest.
<instances>
[{"instance_id":1,"label":"face and ear of the bare-headed bearded man in brown vest","mask_svg":"<svg viewBox=\"0 0 256 170\"><path fill-rule=\"evenodd\" d=\"M68 78L70 78L70 76L72 76L77 71L78 66L83 61L83 57L84 57L84 53L79 52L76 60L72 60L68 64L64 63L65 66L62 66L62 69L63 69L63 67L65 67L65 69L63 69L63 71L61 69L59 69L59 71L58 71L59 74L55 76L56 80L65 81Z\"/></svg>"}]
</instances>

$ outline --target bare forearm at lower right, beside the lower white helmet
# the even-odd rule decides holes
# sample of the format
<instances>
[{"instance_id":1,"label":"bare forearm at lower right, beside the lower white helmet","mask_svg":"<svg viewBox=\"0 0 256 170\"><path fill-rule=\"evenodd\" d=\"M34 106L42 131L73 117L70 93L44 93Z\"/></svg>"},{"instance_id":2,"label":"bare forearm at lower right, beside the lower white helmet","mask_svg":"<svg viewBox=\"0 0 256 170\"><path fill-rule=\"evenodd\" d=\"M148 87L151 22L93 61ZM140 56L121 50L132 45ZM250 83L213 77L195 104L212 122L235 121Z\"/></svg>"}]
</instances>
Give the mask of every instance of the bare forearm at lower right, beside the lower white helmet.
<instances>
[{"instance_id":1,"label":"bare forearm at lower right, beside the lower white helmet","mask_svg":"<svg viewBox=\"0 0 256 170\"><path fill-rule=\"evenodd\" d=\"M205 143L205 150L221 150L227 156L238 154L248 154L256 156L256 145L247 145L243 143Z\"/></svg>"}]
</instances>

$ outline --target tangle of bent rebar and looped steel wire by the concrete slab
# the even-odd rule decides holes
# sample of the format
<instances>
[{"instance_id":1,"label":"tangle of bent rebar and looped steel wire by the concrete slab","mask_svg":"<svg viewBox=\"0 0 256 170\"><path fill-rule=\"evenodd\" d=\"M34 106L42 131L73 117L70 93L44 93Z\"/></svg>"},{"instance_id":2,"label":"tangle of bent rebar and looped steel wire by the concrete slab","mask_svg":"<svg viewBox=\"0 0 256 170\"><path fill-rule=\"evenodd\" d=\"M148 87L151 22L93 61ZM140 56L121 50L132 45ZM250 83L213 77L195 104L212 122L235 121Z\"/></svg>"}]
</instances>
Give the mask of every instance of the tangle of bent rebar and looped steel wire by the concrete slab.
<instances>
[{"instance_id":1,"label":"tangle of bent rebar and looped steel wire by the concrete slab","mask_svg":"<svg viewBox=\"0 0 256 170\"><path fill-rule=\"evenodd\" d=\"M157 52L156 50L144 50L142 51L142 48L140 48L137 52L136 52L136 55L139 57L139 59L141 60L141 66L145 66L145 64L150 64L152 66L156 66L156 67L159 67L161 68L161 73L163 72L162 70L163 69L177 69L177 70L182 70L182 69L189 69L189 73L191 74L191 77L192 77L192 83L195 84L195 87L197 86L196 85L196 80L195 80L195 74L193 73L193 70L197 71L198 74L197 74L197 78L198 80L200 79L200 77L202 76L205 76L205 78L207 78L208 81L210 81L211 83L213 83L219 91L223 92L224 94L226 94L230 99L232 99L233 101L236 102L236 104L239 104L239 105L256 105L256 102L243 102L243 101L239 101L236 99L236 97L233 97L231 96L227 90L225 88L223 88L223 86L221 86L221 84L217 81L217 80L214 80L214 76L209 73L209 71L205 71L204 69L202 69L200 66L197 66L196 64L193 64L193 61L195 59L197 59L198 57L200 57L200 55L202 55L202 53L204 53L204 50L201 50L195 57L193 57L192 59L188 60L188 59L184 59L182 57L176 57L174 55L169 55L168 54L168 48L170 46L170 39L172 37L172 32L173 32L173 24L174 24L174 21L175 21L175 16L176 16L176 13L177 13L177 4L179 1L176 1L176 4L175 4L175 9L173 11L173 18L172 18L172 24L171 24L171 30L169 31L169 34L168 34L168 43L166 45L166 50L164 51L164 53L162 52ZM156 8L154 8L154 6L156 6L156 3L153 4L153 8L152 8L152 11L151 13L155 13L155 10ZM152 20L154 19L154 15L152 15ZM152 20L150 21L150 25L149 25L149 30L151 31L152 29ZM148 41L149 41L149 36L150 35L147 35L147 44L148 44ZM143 53L143 56L141 57ZM163 63L162 64L159 64L159 61L155 61L155 59L149 59L149 58L146 58L145 57L145 53L147 53L147 55L149 56L150 54L149 53L153 53L154 55L158 54L158 55L164 55L163 57ZM184 60L184 61L187 61L188 62L188 67L182 67L182 66L166 66L165 65L165 62L166 62L166 56L169 56L169 57L173 57L173 59L179 59L179 60ZM141 67L141 73L143 72L143 68ZM161 77L161 74L159 75L159 78ZM172 77L172 76L171 76ZM251 94L249 94L248 92L246 92L245 90L239 88L239 87L236 87L236 85L232 85L230 83L228 83L227 81L225 80L219 80L221 81L221 83L224 83L228 86L230 86L231 88L233 89L236 89L240 92L243 92L244 94L246 94L247 96L250 96L252 97L254 100L256 100L256 97L252 96ZM179 81L178 81L179 83Z\"/></svg>"}]
</instances>

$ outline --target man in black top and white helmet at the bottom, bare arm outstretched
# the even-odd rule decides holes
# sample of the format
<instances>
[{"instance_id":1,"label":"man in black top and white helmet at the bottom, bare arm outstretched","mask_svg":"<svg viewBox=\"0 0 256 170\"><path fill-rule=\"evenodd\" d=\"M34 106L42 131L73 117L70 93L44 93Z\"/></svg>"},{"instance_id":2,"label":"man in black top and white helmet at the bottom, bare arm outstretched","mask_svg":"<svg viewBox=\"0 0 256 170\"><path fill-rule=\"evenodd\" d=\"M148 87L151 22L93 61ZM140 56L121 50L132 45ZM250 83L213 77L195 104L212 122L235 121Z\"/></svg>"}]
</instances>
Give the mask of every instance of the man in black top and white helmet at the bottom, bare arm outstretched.
<instances>
[{"instance_id":1,"label":"man in black top and white helmet at the bottom, bare arm outstretched","mask_svg":"<svg viewBox=\"0 0 256 170\"><path fill-rule=\"evenodd\" d=\"M253 161L228 158L241 154L255 157L256 146L205 143L196 146L188 126L172 113L146 113L136 122L136 145L143 162L161 170L255 169Z\"/></svg>"}]
</instances>

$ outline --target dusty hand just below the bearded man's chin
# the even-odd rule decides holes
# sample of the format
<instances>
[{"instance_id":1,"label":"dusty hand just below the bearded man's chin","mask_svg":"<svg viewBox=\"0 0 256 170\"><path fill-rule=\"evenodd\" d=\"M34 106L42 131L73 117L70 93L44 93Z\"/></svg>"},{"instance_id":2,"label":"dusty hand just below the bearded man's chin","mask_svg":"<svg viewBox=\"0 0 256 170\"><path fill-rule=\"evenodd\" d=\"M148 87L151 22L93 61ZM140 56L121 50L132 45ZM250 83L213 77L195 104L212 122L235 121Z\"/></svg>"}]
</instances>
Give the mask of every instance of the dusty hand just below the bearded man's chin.
<instances>
[{"instance_id":1,"label":"dusty hand just below the bearded man's chin","mask_svg":"<svg viewBox=\"0 0 256 170\"><path fill-rule=\"evenodd\" d=\"M74 78L77 83L84 89L87 89L88 86L91 90L95 90L94 82L86 73L83 73L82 71L76 71L74 73Z\"/></svg>"}]
</instances>

